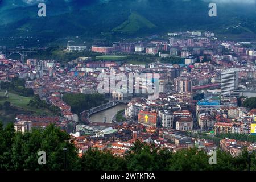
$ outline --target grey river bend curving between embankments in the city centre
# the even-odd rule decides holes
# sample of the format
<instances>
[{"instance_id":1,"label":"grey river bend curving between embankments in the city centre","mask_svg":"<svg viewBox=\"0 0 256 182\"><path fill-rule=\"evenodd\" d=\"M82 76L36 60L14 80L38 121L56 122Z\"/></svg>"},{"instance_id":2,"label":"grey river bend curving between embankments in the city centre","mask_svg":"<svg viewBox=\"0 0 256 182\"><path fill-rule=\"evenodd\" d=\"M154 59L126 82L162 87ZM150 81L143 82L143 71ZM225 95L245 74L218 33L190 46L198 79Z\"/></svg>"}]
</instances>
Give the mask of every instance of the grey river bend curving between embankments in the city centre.
<instances>
[{"instance_id":1,"label":"grey river bend curving between embankments in the city centre","mask_svg":"<svg viewBox=\"0 0 256 182\"><path fill-rule=\"evenodd\" d=\"M125 104L118 104L117 106L111 107L110 109L106 109L104 111L100 111L96 114L90 116L90 121L92 122L104 122L104 117L106 117L107 123L112 123L112 119L118 111L126 108Z\"/></svg>"}]
</instances>

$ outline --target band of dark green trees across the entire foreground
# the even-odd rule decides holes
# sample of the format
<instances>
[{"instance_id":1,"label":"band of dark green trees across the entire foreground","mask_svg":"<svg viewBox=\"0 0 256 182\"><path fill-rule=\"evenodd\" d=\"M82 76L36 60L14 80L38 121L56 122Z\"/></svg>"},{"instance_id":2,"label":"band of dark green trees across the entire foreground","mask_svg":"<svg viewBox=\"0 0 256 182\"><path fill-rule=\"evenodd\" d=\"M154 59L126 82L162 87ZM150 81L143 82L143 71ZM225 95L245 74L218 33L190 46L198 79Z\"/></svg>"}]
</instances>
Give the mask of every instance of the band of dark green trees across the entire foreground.
<instances>
[{"instance_id":1,"label":"band of dark green trees across the entire foreground","mask_svg":"<svg viewBox=\"0 0 256 182\"><path fill-rule=\"evenodd\" d=\"M68 170L247 170L248 152L233 157L228 152L217 150L217 164L209 164L209 156L204 150L190 148L172 152L168 148L156 147L136 140L121 158L109 150L89 148L81 158L67 133L55 125L31 132L15 133L14 125L4 129L0 123L0 170L56 171L64 169L64 152L67 150ZM38 164L38 152L46 152L46 165ZM251 169L256 170L255 151L251 154Z\"/></svg>"}]
</instances>

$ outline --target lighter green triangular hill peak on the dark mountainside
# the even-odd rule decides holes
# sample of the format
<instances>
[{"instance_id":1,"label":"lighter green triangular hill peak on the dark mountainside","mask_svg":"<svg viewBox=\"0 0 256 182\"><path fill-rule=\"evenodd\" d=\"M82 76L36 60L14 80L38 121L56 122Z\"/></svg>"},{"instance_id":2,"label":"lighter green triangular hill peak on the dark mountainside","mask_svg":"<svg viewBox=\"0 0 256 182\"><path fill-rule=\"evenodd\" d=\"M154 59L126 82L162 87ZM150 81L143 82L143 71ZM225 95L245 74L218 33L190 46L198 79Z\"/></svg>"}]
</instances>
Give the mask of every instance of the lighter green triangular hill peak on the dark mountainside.
<instances>
[{"instance_id":1,"label":"lighter green triangular hill peak on the dark mountainside","mask_svg":"<svg viewBox=\"0 0 256 182\"><path fill-rule=\"evenodd\" d=\"M125 32L125 33L135 33L141 31L142 29L156 28L155 24L151 23L149 20L137 13L131 13L128 20L123 22L118 27L115 27L113 31L115 32Z\"/></svg>"}]
</instances>

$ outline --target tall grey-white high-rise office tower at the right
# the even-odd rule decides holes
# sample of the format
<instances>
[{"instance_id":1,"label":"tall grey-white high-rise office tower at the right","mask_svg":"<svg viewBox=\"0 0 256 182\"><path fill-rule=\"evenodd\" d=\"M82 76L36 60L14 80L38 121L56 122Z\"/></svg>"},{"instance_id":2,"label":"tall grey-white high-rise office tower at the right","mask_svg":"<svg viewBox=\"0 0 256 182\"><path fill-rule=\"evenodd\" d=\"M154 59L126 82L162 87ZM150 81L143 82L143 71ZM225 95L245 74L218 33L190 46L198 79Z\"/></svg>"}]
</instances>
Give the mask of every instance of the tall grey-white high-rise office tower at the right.
<instances>
[{"instance_id":1,"label":"tall grey-white high-rise office tower at the right","mask_svg":"<svg viewBox=\"0 0 256 182\"><path fill-rule=\"evenodd\" d=\"M239 97L238 71L226 69L221 72L221 95Z\"/></svg>"}]
</instances>

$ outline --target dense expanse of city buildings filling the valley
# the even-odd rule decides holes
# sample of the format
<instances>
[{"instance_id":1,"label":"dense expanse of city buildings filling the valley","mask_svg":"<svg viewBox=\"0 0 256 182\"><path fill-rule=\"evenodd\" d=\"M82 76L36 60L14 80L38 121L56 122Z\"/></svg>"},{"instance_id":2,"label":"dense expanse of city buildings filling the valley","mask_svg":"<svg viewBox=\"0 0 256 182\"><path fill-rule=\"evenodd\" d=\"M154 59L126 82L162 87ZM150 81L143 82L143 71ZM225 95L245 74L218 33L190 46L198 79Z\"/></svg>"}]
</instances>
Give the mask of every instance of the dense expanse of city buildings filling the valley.
<instances>
[{"instance_id":1,"label":"dense expanse of city buildings filling the valley","mask_svg":"<svg viewBox=\"0 0 256 182\"><path fill-rule=\"evenodd\" d=\"M188 137L185 135L187 131L255 134L256 111L242 107L245 98L256 97L254 45L221 41L212 32L187 31L168 35L169 40L95 44L91 47L92 52L109 55L96 56L94 60L78 57L65 66L55 60L28 59L26 63L20 63L7 60L1 54L1 81L24 78L26 87L61 110L61 117L19 115L15 129L24 132L30 131L31 127L55 123L72 133L80 151L89 147L108 148L117 155L125 154L135 139L170 150L193 146L206 150L214 148L208 140ZM69 46L68 51L80 52L86 48ZM117 60L115 53L153 55L159 61L130 64L123 57ZM171 60L175 56L179 56L183 63L161 63L163 57ZM118 79L125 80L123 83L127 87L113 90L111 84L118 85ZM79 123L80 116L71 112L71 107L61 99L62 94L97 93L103 80L106 81L106 97L128 103L124 113L126 121ZM156 98L148 97L152 94L148 92L149 88L159 93ZM230 150L234 145L230 143L236 142L228 139L221 142L232 155L237 153Z\"/></svg>"}]
</instances>

